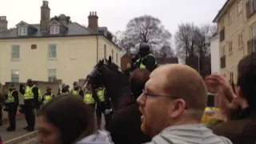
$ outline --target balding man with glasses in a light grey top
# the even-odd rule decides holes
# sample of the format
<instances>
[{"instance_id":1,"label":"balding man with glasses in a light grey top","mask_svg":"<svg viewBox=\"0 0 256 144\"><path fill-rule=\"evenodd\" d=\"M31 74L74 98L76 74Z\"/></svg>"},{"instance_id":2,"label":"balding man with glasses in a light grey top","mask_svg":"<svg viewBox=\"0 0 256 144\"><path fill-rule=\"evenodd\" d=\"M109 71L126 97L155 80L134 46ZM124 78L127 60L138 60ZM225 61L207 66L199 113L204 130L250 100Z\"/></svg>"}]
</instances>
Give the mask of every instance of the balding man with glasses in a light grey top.
<instances>
[{"instance_id":1,"label":"balding man with glasses in a light grey top","mask_svg":"<svg viewBox=\"0 0 256 144\"><path fill-rule=\"evenodd\" d=\"M150 74L137 102L142 112L141 128L152 138L150 144L231 144L199 124L207 90L202 77L190 66L158 67Z\"/></svg>"}]
</instances>

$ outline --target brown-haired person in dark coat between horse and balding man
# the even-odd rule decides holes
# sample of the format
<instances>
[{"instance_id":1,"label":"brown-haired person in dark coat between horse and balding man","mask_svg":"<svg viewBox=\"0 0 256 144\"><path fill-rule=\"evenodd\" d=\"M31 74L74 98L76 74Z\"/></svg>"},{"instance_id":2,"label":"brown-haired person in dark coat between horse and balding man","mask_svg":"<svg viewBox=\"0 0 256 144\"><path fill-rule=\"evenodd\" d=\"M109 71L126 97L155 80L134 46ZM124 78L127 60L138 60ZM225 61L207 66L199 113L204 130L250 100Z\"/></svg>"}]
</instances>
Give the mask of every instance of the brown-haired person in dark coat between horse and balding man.
<instances>
[{"instance_id":1,"label":"brown-haired person in dark coat between horse and balding man","mask_svg":"<svg viewBox=\"0 0 256 144\"><path fill-rule=\"evenodd\" d=\"M141 116L136 99L142 94L146 81L150 79L150 72L146 69L136 69L130 74L130 89L134 101L114 114L111 122L111 137L115 144L141 144L150 142L151 138L142 133Z\"/></svg>"}]
</instances>

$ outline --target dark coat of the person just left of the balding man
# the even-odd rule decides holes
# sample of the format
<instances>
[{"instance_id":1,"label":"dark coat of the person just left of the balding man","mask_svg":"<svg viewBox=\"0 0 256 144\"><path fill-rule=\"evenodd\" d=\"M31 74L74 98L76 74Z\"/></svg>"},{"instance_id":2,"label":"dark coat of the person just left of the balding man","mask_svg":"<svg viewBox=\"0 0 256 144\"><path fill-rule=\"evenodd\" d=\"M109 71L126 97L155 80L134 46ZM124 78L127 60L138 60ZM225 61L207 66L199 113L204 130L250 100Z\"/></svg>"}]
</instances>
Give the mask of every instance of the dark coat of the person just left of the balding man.
<instances>
[{"instance_id":1,"label":"dark coat of the person just left of the balding man","mask_svg":"<svg viewBox=\"0 0 256 144\"><path fill-rule=\"evenodd\" d=\"M114 144L142 144L151 138L142 133L138 103L132 102L114 114L108 130Z\"/></svg>"}]
</instances>

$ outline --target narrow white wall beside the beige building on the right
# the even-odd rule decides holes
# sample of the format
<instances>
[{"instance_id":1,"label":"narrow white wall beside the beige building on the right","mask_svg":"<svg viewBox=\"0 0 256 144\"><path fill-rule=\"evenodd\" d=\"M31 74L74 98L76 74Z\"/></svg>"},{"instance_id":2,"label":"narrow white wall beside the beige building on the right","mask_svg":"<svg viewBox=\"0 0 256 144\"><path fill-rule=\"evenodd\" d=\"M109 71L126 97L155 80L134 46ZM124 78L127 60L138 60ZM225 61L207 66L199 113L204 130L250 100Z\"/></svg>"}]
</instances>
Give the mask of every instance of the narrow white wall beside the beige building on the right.
<instances>
[{"instance_id":1,"label":"narrow white wall beside the beige building on the right","mask_svg":"<svg viewBox=\"0 0 256 144\"><path fill-rule=\"evenodd\" d=\"M210 40L210 63L211 74L220 74L220 56L219 56L219 40L218 35Z\"/></svg>"}]
</instances>

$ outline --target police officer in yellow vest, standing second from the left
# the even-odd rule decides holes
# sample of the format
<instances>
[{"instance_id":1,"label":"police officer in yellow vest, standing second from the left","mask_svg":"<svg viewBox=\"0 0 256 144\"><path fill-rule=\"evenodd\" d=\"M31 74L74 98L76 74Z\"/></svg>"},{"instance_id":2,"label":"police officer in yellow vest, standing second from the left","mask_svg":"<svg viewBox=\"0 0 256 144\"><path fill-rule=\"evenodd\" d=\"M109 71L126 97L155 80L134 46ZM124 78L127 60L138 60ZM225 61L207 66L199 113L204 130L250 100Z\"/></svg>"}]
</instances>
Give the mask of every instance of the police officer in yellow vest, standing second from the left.
<instances>
[{"instance_id":1,"label":"police officer in yellow vest, standing second from the left","mask_svg":"<svg viewBox=\"0 0 256 144\"><path fill-rule=\"evenodd\" d=\"M20 87L20 93L24 95L24 113L28 125L24 127L24 130L34 131L34 108L36 107L35 105L38 103L38 88L33 85L31 79L28 79L26 83L26 87L22 85Z\"/></svg>"}]
</instances>

